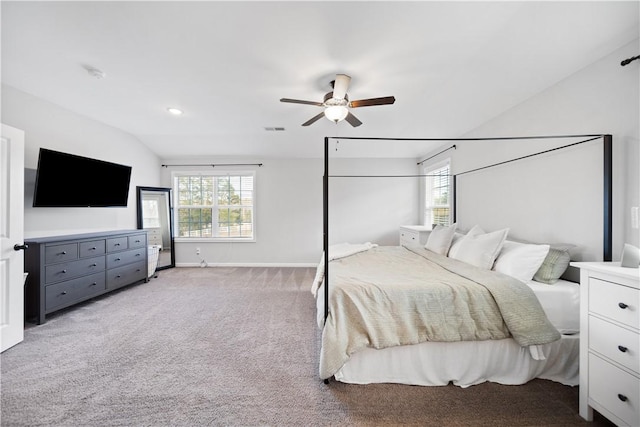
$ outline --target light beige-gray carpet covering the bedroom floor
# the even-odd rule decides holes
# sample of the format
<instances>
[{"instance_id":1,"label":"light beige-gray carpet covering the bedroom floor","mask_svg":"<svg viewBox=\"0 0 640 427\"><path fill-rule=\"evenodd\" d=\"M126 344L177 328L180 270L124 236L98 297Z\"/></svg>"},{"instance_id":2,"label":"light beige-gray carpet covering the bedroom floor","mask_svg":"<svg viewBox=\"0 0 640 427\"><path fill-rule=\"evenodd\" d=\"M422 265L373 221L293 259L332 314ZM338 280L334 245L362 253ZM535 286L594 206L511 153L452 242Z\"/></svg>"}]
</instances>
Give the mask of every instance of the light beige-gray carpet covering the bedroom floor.
<instances>
[{"instance_id":1,"label":"light beige-gray carpet covering the bedroom floor","mask_svg":"<svg viewBox=\"0 0 640 427\"><path fill-rule=\"evenodd\" d=\"M2 426L565 426L577 388L318 378L310 268L175 268L27 325ZM602 418L589 425L607 425Z\"/></svg>"}]
</instances>

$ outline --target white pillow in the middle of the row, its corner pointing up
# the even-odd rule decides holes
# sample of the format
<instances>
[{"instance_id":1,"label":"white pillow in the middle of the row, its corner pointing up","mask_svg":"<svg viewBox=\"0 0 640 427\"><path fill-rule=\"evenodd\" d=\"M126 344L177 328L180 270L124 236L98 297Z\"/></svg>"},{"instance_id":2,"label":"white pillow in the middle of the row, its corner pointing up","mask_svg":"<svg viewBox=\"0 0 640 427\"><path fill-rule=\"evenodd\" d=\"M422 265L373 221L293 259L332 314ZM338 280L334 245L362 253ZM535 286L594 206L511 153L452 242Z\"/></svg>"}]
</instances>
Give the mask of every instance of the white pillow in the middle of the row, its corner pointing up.
<instances>
[{"instance_id":1,"label":"white pillow in the middle of the row, its corner pointing up","mask_svg":"<svg viewBox=\"0 0 640 427\"><path fill-rule=\"evenodd\" d=\"M469 231L469 233L460 240L460 247L457 248L454 256L451 256L451 258L464 261L476 267L491 270L507 238L508 232L508 228L477 235L470 235L471 231Z\"/></svg>"}]
</instances>

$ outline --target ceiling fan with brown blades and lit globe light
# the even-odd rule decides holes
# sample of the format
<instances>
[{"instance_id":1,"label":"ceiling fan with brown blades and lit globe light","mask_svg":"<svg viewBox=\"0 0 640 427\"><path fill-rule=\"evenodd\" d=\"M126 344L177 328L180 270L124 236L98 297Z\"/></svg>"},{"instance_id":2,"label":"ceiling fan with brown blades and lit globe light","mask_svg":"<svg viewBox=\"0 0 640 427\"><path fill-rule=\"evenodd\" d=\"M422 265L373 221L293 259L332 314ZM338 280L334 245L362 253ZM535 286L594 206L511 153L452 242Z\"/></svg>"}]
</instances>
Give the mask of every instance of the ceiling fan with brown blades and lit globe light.
<instances>
[{"instance_id":1,"label":"ceiling fan with brown blades and lit globe light","mask_svg":"<svg viewBox=\"0 0 640 427\"><path fill-rule=\"evenodd\" d=\"M396 98L393 96L385 96L382 98L369 98L360 99L357 101L349 101L347 95L347 89L349 88L349 82L351 77L346 74L336 74L336 79L331 82L333 91L328 92L324 96L323 102L303 101L300 99L281 98L280 102L290 102L293 104L306 104L315 105L318 107L324 107L324 111L315 115L311 119L307 120L302 126L309 126L318 121L322 116L332 122L338 123L339 121L346 120L353 127L360 126L362 122L356 118L349 111L350 108L359 107L371 107L374 105L387 105L396 102Z\"/></svg>"}]
</instances>

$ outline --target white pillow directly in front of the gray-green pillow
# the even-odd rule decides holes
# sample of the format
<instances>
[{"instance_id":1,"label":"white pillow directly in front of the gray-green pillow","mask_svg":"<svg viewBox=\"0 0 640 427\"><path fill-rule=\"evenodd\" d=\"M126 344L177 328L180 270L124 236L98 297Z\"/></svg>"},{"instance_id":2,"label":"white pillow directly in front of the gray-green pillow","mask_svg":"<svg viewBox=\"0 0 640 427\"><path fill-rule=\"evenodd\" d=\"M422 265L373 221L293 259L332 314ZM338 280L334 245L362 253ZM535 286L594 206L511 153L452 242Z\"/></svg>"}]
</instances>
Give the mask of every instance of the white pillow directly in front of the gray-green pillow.
<instances>
[{"instance_id":1,"label":"white pillow directly in front of the gray-green pillow","mask_svg":"<svg viewBox=\"0 0 640 427\"><path fill-rule=\"evenodd\" d=\"M549 245L534 245L507 240L493 265L495 271L528 282L549 253Z\"/></svg>"}]
</instances>

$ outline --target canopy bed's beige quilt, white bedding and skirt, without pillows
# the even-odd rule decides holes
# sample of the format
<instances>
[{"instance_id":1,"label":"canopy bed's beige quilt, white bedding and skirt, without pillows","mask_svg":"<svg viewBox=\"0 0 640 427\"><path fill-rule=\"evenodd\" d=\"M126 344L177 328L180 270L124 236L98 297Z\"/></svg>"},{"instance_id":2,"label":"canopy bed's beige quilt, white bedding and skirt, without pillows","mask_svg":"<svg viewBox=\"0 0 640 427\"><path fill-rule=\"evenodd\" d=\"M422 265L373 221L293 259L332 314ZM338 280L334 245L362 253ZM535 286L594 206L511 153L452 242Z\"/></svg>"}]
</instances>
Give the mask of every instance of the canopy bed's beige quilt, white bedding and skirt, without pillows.
<instances>
[{"instance_id":1,"label":"canopy bed's beige quilt, white bedding and skirt, without pillows","mask_svg":"<svg viewBox=\"0 0 640 427\"><path fill-rule=\"evenodd\" d=\"M349 247L353 250L351 254ZM564 280L558 280L553 286L534 281L525 284L499 272L483 271L449 260L420 246L378 247L365 243L336 245L333 249L330 249L333 286L326 324L322 315L324 299L316 299L317 322L323 329L321 378L333 376L338 381L356 384L446 385L452 382L461 387L484 381L523 384L533 378L545 378L577 385L578 284ZM432 270L444 269L442 266L451 271L434 275ZM322 271L321 263L312 289L319 296L324 291ZM476 291L467 290L464 280L463 284L452 282L460 280L449 277L454 274L475 280L485 276L484 280L491 279L489 285L506 286L511 291L504 295L500 288L493 290L497 301L506 305L506 311L509 306L518 307L508 318L513 333L519 334L517 339L511 336L512 332L503 324L501 315L496 314L495 307L484 308L487 301L476 301L487 298L486 289L476 284L480 287L477 291L480 295L476 298L473 296ZM429 277L435 278L435 289L434 280ZM497 284L493 283L496 281ZM438 289L438 285L444 290ZM449 293L454 286L461 286L462 290ZM410 298L401 298L407 293ZM522 293L524 295L520 295ZM470 304L478 304L481 315L478 318L473 307L462 306L467 323L473 326L473 322L479 320L496 326L462 327L465 322L459 320L460 313L447 309L455 307L453 301L466 294L473 296ZM394 302L399 297L402 305ZM527 298L533 300L526 301ZM488 299L492 305L494 298L489 296ZM520 302L521 299L524 302ZM533 307L527 308L526 303ZM350 309L344 310L345 306ZM379 310L379 307L383 309ZM444 312L439 311L442 307ZM435 312L430 319L422 315L429 311ZM403 313L410 315L403 316ZM493 313L497 319L491 319L487 313ZM335 315L346 321L341 322ZM537 324L530 330L532 318ZM355 319L358 319L358 325L353 331ZM404 329L400 328L404 334L398 334L395 328L384 327L390 323L398 325L400 321L405 325ZM425 323L431 324L435 331L425 332L414 325L406 333L407 324ZM446 323L455 324L447 328ZM381 330L387 334L381 334ZM354 333L353 339L343 336Z\"/></svg>"}]
</instances>

